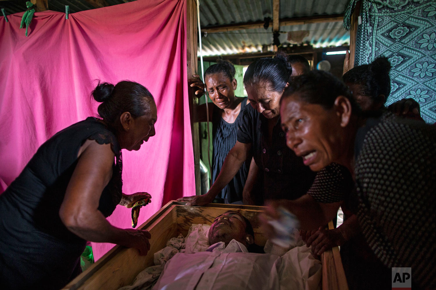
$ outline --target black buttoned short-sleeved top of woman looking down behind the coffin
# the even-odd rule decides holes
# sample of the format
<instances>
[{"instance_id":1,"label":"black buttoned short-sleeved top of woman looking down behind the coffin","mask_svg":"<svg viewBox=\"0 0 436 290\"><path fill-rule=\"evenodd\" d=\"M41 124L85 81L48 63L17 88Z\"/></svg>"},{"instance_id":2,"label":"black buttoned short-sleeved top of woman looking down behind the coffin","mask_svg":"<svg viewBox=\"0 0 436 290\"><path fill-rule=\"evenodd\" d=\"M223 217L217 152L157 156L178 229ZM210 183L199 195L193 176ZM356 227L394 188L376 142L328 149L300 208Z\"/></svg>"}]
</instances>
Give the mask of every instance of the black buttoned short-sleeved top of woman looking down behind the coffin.
<instances>
[{"instance_id":1,"label":"black buttoned short-sleeved top of woman looking down behind the coffin","mask_svg":"<svg viewBox=\"0 0 436 290\"><path fill-rule=\"evenodd\" d=\"M268 119L246 106L239 122L238 141L252 144L254 160L263 173L264 199L293 200L307 193L315 173L286 146L280 118L269 141Z\"/></svg>"}]
</instances>

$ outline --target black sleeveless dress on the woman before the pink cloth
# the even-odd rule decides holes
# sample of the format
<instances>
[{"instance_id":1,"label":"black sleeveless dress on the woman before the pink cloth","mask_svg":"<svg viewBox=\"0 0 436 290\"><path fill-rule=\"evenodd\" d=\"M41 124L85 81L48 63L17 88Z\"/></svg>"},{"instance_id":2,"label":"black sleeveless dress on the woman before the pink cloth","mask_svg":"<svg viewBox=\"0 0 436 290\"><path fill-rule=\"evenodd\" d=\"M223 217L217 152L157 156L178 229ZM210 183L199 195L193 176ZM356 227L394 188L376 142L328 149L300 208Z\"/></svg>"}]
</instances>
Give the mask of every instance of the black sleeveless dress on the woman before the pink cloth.
<instances>
[{"instance_id":1,"label":"black sleeveless dress on the woman before the pink cloth","mask_svg":"<svg viewBox=\"0 0 436 290\"><path fill-rule=\"evenodd\" d=\"M80 273L86 241L65 227L59 209L78 150L88 139L111 143L116 156L98 209L108 217L121 200L121 149L115 135L93 117L56 133L0 195L0 289L60 289Z\"/></svg>"}]
</instances>

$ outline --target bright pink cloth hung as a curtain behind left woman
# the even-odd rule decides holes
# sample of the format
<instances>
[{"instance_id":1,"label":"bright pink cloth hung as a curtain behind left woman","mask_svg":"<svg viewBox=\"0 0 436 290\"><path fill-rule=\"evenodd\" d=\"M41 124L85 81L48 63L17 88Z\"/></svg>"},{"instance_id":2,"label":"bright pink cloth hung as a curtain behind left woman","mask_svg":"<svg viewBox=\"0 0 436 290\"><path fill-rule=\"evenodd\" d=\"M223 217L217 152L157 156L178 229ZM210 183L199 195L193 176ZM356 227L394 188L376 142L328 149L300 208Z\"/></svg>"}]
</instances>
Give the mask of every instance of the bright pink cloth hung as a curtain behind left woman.
<instances>
[{"instance_id":1,"label":"bright pink cloth hung as a curtain behind left woman","mask_svg":"<svg viewBox=\"0 0 436 290\"><path fill-rule=\"evenodd\" d=\"M123 192L153 196L138 225L163 202L194 194L184 0L138 0L68 20L65 13L39 12L28 37L18 29L22 15L8 15L8 23L0 17L1 192L45 140L96 116L99 103L90 92L99 79L141 83L157 103L156 136L140 151L123 150ZM131 210L118 206L108 220L131 228ZM93 243L95 258L111 247Z\"/></svg>"}]
</instances>

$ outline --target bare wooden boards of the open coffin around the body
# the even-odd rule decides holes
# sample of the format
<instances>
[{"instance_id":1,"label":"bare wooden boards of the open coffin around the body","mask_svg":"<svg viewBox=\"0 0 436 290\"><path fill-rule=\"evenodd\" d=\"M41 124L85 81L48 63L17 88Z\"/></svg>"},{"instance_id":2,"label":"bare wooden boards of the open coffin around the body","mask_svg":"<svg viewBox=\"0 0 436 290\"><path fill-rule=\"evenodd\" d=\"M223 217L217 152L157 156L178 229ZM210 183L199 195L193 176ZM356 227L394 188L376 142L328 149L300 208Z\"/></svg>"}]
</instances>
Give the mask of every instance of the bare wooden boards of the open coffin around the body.
<instances>
[{"instance_id":1,"label":"bare wooden boards of the open coffin around the body","mask_svg":"<svg viewBox=\"0 0 436 290\"><path fill-rule=\"evenodd\" d=\"M63 289L116 290L119 287L130 285L139 272L146 267L153 266L153 253L163 249L170 238L177 237L179 233L186 237L193 223L211 224L215 217L228 210L238 210L248 218L255 233L255 243L265 245L266 237L258 221L263 207L219 203L211 203L203 207L187 207L184 202L170 201L138 227L151 233L151 249L147 256L140 256L136 249L113 247ZM333 228L333 223L330 223L329 227ZM323 264L322 289L347 290L339 249L336 247L326 251L321 260Z\"/></svg>"}]
</instances>

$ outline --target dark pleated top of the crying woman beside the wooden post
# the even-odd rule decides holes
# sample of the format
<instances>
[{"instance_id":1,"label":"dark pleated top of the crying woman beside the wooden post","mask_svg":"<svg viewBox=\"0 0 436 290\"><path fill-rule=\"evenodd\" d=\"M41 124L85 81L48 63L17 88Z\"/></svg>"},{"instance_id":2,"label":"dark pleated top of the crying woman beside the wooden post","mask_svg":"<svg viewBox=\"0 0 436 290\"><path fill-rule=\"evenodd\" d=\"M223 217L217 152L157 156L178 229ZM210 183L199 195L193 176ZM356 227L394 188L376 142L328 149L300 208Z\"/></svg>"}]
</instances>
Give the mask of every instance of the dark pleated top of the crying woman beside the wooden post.
<instances>
[{"instance_id":1,"label":"dark pleated top of the crying woman beside the wooden post","mask_svg":"<svg viewBox=\"0 0 436 290\"><path fill-rule=\"evenodd\" d=\"M236 143L236 134L238 132L238 122L241 119L242 110L247 104L247 97L242 98L241 110L234 123L227 123L221 117L221 110L215 106L212 114L212 136L213 136L213 160L212 160L212 183L218 177L225 157ZM228 203L242 200L242 190L247 180L250 169L251 158L247 158L242 164L235 177L221 190L217 198L224 199Z\"/></svg>"}]
</instances>

